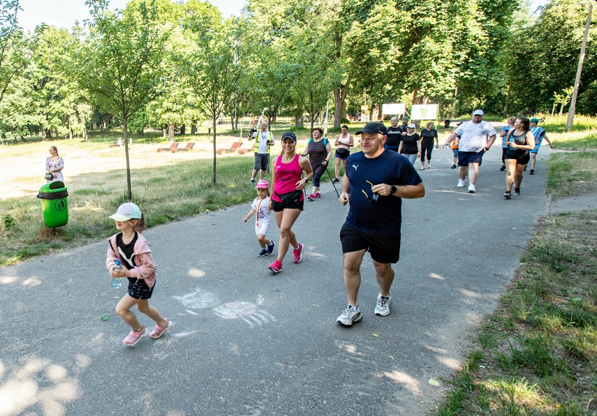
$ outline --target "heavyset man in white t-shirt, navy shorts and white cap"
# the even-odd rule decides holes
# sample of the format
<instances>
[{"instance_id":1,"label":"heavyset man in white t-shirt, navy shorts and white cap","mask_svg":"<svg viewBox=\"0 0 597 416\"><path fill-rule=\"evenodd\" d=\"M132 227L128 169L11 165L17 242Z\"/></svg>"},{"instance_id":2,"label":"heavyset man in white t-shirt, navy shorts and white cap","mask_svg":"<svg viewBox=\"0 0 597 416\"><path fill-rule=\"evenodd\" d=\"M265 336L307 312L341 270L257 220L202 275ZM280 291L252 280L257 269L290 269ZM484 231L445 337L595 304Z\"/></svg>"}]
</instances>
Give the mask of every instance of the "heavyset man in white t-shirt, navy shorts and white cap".
<instances>
[{"instance_id":1,"label":"heavyset man in white t-shirt, navy shorts and white cap","mask_svg":"<svg viewBox=\"0 0 597 416\"><path fill-rule=\"evenodd\" d=\"M444 147L452 140L456 140L458 144L458 187L464 188L468 174L469 193L475 193L483 154L489 151L489 147L492 147L496 140L495 128L491 123L483 121L483 110L475 110L471 121L464 121L448 136Z\"/></svg>"}]
</instances>

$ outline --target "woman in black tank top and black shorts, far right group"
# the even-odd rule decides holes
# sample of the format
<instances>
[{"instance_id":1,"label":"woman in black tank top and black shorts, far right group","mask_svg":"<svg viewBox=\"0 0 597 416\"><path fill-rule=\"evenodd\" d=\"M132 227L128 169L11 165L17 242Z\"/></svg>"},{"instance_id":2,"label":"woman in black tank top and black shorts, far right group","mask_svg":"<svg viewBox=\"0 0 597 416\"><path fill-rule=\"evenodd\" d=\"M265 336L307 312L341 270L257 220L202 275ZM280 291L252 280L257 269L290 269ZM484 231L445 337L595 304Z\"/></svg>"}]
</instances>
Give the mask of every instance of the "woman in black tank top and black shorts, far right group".
<instances>
[{"instance_id":1,"label":"woman in black tank top and black shorts, far right group","mask_svg":"<svg viewBox=\"0 0 597 416\"><path fill-rule=\"evenodd\" d=\"M520 117L514 122L513 128L506 138L508 150L504 161L506 162L506 192L503 198L512 198L512 185L514 184L514 195L520 195L520 184L522 183L522 172L529 163L531 156L529 150L535 147L535 137L530 130L530 121L526 117Z\"/></svg>"}]
</instances>

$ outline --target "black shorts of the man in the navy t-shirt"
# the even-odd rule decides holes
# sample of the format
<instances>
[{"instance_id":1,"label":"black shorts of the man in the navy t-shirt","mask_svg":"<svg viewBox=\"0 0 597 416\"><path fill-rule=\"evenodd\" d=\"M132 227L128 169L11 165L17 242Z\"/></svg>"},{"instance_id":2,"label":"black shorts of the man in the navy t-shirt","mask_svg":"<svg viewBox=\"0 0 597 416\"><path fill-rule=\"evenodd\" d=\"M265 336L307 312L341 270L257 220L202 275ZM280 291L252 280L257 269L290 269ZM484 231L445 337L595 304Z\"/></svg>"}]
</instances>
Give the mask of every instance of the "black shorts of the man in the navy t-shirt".
<instances>
[{"instance_id":1,"label":"black shorts of the man in the navy t-shirt","mask_svg":"<svg viewBox=\"0 0 597 416\"><path fill-rule=\"evenodd\" d=\"M342 253L367 250L378 263L396 263L400 260L400 233L365 234L350 225L342 225L340 230Z\"/></svg>"}]
</instances>

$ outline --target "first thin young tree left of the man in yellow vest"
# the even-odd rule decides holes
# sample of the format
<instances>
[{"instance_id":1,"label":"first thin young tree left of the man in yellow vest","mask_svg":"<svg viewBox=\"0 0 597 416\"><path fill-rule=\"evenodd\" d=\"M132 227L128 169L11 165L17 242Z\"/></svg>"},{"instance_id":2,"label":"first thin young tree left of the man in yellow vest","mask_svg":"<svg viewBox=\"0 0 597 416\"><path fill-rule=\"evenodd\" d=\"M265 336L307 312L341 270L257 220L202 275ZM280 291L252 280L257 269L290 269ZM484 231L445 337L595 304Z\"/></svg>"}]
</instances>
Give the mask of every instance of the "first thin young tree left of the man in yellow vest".
<instances>
[{"instance_id":1,"label":"first thin young tree left of the man in yellow vest","mask_svg":"<svg viewBox=\"0 0 597 416\"><path fill-rule=\"evenodd\" d=\"M213 172L216 184L217 120L230 103L240 76L234 20L222 21L215 6L199 0L184 4L184 29L189 40L180 57L181 73L196 96L195 104L212 120Z\"/></svg>"}]
</instances>

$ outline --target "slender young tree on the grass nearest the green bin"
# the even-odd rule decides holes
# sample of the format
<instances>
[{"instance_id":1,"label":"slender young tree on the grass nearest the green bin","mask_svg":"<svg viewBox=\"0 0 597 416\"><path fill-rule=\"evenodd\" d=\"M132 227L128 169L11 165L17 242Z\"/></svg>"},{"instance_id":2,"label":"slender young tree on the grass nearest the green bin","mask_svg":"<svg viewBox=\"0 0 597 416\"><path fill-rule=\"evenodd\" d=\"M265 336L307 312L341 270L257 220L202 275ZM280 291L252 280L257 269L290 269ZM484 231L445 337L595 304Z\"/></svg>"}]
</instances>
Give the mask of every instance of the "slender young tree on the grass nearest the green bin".
<instances>
[{"instance_id":1,"label":"slender young tree on the grass nearest the green bin","mask_svg":"<svg viewBox=\"0 0 597 416\"><path fill-rule=\"evenodd\" d=\"M133 0L124 12L112 12L107 0L85 1L93 20L86 22L89 39L75 52L77 80L87 89L91 103L122 118L128 200L133 192L127 122L160 92L168 26L160 23L157 12L164 3Z\"/></svg>"}]
</instances>

